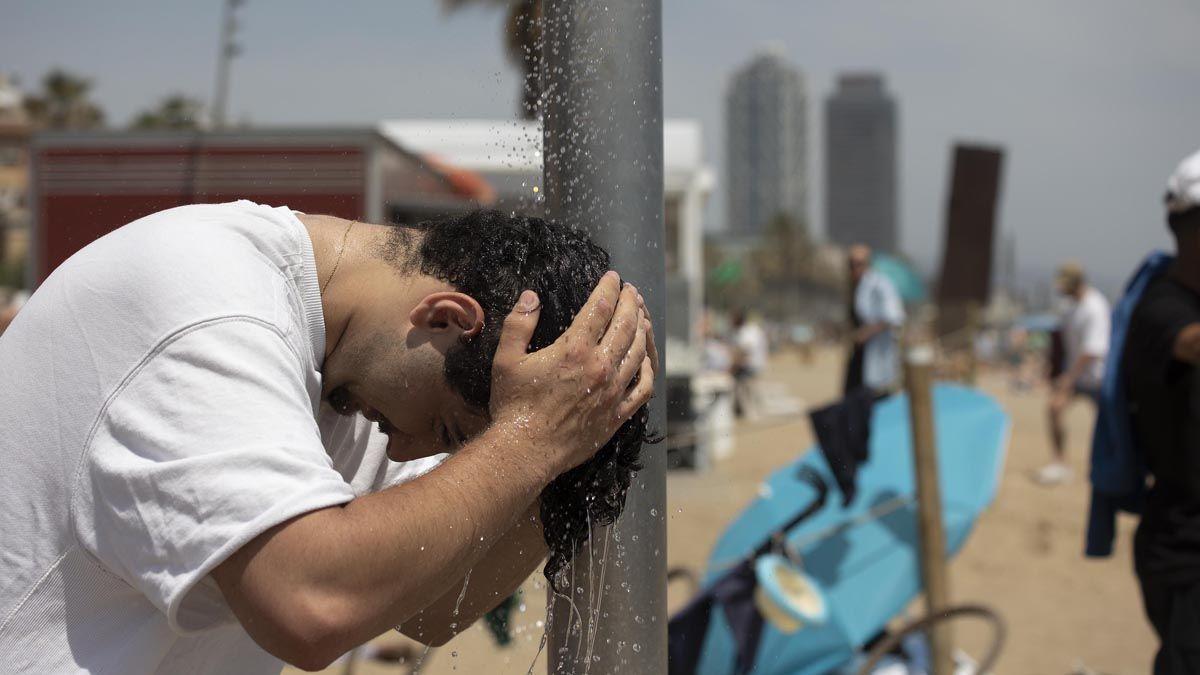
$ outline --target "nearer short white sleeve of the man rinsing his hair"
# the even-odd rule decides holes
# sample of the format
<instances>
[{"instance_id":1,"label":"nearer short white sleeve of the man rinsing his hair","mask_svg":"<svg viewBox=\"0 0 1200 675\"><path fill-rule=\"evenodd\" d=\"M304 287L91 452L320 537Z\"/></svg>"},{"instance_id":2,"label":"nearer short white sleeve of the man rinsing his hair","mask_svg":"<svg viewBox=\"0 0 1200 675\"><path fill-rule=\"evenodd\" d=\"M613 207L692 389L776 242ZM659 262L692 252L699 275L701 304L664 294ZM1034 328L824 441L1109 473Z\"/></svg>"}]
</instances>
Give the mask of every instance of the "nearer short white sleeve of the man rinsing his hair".
<instances>
[{"instance_id":1,"label":"nearer short white sleeve of the man rinsing his hair","mask_svg":"<svg viewBox=\"0 0 1200 675\"><path fill-rule=\"evenodd\" d=\"M270 527L354 497L322 444L306 371L272 327L227 319L143 360L101 413L73 526L173 629L232 621L204 581L212 568Z\"/></svg>"}]
</instances>

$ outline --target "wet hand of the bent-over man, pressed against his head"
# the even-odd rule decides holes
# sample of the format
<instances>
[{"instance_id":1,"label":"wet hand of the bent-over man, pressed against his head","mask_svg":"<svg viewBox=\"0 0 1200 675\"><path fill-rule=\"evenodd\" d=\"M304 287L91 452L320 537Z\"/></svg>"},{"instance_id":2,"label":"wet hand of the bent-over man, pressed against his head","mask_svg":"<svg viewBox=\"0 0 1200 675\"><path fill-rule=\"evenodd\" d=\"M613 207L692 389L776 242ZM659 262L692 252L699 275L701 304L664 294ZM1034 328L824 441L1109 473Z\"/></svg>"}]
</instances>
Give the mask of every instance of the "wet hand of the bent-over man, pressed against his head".
<instances>
[{"instance_id":1,"label":"wet hand of the bent-over man, pressed against his head","mask_svg":"<svg viewBox=\"0 0 1200 675\"><path fill-rule=\"evenodd\" d=\"M559 339L529 353L540 304L526 291L492 362L492 419L554 476L587 461L654 393L658 351L631 285L610 271Z\"/></svg>"}]
</instances>

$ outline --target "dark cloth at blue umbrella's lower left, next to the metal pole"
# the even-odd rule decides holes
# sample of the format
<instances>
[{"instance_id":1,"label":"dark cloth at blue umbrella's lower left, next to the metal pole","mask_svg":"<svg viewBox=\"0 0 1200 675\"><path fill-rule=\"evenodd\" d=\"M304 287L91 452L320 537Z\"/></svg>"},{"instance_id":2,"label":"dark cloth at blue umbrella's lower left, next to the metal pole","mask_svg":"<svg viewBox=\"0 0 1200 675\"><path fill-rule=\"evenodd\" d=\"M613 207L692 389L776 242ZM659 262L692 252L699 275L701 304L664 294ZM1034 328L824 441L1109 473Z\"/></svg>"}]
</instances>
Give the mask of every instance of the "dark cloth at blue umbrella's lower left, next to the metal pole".
<instances>
[{"instance_id":1,"label":"dark cloth at blue umbrella's lower left, next to the metal pole","mask_svg":"<svg viewBox=\"0 0 1200 675\"><path fill-rule=\"evenodd\" d=\"M670 675L695 675L713 608L725 610L733 641L737 644L737 673L754 669L762 639L763 619L754 604L758 581L754 562L745 561L721 577L676 614L667 625L667 671Z\"/></svg>"}]
</instances>

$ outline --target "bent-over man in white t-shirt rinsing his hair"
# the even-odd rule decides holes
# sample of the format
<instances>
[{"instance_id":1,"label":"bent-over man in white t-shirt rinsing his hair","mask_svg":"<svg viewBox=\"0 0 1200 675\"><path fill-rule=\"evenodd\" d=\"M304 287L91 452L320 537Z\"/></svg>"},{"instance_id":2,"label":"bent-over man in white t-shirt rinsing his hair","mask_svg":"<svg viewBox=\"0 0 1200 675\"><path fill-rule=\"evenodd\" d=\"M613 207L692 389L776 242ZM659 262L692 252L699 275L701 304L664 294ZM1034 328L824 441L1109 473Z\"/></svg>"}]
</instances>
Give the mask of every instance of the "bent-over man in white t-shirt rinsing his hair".
<instances>
[{"instance_id":1,"label":"bent-over man in white t-shirt rinsing his hair","mask_svg":"<svg viewBox=\"0 0 1200 675\"><path fill-rule=\"evenodd\" d=\"M547 550L559 586L658 362L607 265L539 219L245 201L84 247L0 338L2 670L320 669L444 643Z\"/></svg>"}]
</instances>

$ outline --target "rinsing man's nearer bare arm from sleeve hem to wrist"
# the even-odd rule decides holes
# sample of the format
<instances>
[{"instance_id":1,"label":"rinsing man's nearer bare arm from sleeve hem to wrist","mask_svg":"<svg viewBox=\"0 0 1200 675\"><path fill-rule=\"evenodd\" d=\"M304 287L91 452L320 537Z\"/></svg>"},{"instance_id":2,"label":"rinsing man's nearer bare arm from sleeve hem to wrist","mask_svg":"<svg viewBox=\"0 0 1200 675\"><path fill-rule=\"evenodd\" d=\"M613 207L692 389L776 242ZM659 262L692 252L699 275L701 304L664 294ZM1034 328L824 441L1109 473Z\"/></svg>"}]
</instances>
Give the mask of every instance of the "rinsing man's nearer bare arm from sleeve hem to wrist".
<instances>
[{"instance_id":1,"label":"rinsing man's nearer bare arm from sleeve hem to wrist","mask_svg":"<svg viewBox=\"0 0 1200 675\"><path fill-rule=\"evenodd\" d=\"M240 622L272 653L308 643L336 656L433 604L553 478L518 431L490 429L420 478L238 551L217 581Z\"/></svg>"}]
</instances>

